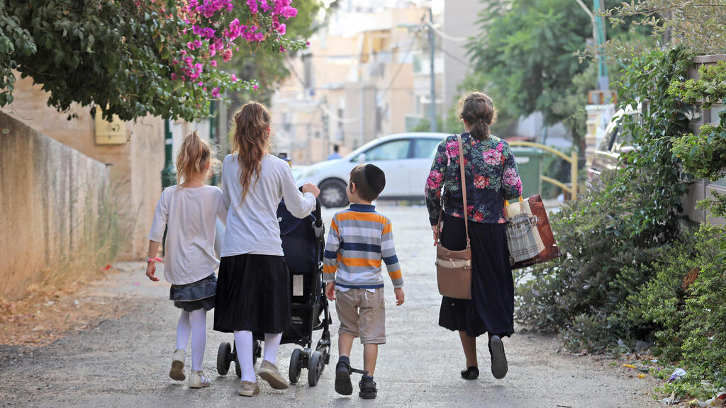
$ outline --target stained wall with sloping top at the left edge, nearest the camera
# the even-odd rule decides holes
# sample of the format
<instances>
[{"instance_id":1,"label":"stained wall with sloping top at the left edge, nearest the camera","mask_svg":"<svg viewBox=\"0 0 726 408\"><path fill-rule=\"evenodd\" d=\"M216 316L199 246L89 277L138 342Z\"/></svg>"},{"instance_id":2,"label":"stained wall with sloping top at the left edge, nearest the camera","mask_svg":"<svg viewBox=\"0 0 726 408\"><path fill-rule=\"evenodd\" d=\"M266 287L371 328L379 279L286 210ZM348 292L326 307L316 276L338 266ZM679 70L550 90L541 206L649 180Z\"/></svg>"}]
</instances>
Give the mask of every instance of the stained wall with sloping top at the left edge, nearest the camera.
<instances>
[{"instance_id":1,"label":"stained wall with sloping top at the left edge, nearest the camera","mask_svg":"<svg viewBox=\"0 0 726 408\"><path fill-rule=\"evenodd\" d=\"M94 239L109 187L104 163L0 113L0 298Z\"/></svg>"}]
</instances>

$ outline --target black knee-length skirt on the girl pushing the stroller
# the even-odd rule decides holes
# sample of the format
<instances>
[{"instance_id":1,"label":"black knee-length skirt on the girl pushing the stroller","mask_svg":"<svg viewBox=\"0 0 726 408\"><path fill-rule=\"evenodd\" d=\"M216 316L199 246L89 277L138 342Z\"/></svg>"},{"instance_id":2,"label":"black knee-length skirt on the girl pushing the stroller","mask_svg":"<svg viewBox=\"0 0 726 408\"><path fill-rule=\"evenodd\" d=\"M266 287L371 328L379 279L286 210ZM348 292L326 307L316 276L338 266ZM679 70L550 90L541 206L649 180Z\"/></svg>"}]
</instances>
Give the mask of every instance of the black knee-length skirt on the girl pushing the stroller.
<instances>
[{"instance_id":1,"label":"black knee-length skirt on the girl pushing the stroller","mask_svg":"<svg viewBox=\"0 0 726 408\"><path fill-rule=\"evenodd\" d=\"M281 333L290 327L290 280L284 256L225 256L217 275L214 330Z\"/></svg>"}]
</instances>

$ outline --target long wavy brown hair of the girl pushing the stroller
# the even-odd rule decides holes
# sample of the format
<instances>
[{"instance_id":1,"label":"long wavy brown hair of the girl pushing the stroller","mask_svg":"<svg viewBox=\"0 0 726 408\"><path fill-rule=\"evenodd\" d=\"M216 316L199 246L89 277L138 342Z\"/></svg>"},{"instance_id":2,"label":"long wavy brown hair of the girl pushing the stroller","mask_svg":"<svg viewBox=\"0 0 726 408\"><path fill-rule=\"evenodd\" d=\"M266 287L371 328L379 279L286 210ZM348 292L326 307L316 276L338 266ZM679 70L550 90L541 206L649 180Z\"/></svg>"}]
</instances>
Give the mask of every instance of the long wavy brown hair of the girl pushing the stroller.
<instances>
[{"instance_id":1,"label":"long wavy brown hair of the girl pushing the stroller","mask_svg":"<svg viewBox=\"0 0 726 408\"><path fill-rule=\"evenodd\" d=\"M270 152L269 131L272 117L264 105L247 102L234 113L234 138L232 152L237 153L240 163L240 184L242 201L253 184L260 179L262 158Z\"/></svg>"}]
</instances>

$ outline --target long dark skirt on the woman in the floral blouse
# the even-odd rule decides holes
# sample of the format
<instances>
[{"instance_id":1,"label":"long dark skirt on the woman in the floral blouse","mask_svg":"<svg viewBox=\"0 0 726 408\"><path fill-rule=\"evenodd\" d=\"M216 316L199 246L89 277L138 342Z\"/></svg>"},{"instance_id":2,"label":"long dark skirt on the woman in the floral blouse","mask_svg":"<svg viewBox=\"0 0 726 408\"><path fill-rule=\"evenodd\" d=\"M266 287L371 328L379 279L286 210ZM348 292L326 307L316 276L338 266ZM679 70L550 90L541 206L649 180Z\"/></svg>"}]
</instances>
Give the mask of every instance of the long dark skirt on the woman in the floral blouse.
<instances>
[{"instance_id":1,"label":"long dark skirt on the woman in the floral blouse","mask_svg":"<svg viewBox=\"0 0 726 408\"><path fill-rule=\"evenodd\" d=\"M504 224L469 221L472 272L471 300L444 296L439 325L465 331L471 337L489 332L510 336L514 332L514 279ZM444 214L441 244L451 250L466 248L464 220Z\"/></svg>"}]
</instances>

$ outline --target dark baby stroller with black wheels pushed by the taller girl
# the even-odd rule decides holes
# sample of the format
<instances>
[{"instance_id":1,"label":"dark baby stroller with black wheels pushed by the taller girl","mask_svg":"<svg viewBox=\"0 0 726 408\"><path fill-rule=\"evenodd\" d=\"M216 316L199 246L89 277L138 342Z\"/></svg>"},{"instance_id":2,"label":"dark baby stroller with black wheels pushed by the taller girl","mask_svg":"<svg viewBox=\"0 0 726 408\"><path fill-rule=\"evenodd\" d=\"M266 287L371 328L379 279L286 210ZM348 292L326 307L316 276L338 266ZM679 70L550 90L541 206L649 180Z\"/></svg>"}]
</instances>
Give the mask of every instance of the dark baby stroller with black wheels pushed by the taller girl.
<instances>
[{"instance_id":1,"label":"dark baby stroller with black wheels pushed by the taller girl","mask_svg":"<svg viewBox=\"0 0 726 408\"><path fill-rule=\"evenodd\" d=\"M287 269L290 271L290 295L292 296L292 325L282 332L281 344L295 343L290 356L290 383L297 383L303 368L308 369L308 384L312 387L330 362L330 310L325 287L322 283L322 257L325 250L325 226L320 213L320 201L315 211L305 219L295 218L283 201L277 207L277 221L280 223L282 249L285 251ZM322 319L321 319L322 317ZM313 332L321 330L317 346L312 348ZM261 342L264 333L254 333L253 362L262 355ZM234 342L232 342L234 343ZM237 346L219 344L217 351L217 372L227 375L229 364L234 362L237 377L242 377L237 360Z\"/></svg>"}]
</instances>

